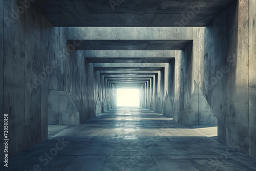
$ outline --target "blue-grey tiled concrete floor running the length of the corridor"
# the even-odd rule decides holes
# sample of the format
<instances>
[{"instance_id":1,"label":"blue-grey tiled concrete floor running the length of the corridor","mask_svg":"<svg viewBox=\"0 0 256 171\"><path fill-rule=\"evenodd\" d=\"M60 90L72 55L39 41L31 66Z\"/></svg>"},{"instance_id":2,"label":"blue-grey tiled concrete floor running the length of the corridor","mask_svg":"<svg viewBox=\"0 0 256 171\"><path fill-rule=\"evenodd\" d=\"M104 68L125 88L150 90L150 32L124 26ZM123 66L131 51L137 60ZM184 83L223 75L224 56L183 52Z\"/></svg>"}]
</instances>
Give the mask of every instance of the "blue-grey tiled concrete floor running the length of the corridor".
<instances>
[{"instance_id":1,"label":"blue-grey tiled concrete floor running the length of the corridor","mask_svg":"<svg viewBox=\"0 0 256 171\"><path fill-rule=\"evenodd\" d=\"M111 110L49 131L51 138L0 170L256 170L256 160L217 142L216 127L189 128L145 109Z\"/></svg>"}]
</instances>

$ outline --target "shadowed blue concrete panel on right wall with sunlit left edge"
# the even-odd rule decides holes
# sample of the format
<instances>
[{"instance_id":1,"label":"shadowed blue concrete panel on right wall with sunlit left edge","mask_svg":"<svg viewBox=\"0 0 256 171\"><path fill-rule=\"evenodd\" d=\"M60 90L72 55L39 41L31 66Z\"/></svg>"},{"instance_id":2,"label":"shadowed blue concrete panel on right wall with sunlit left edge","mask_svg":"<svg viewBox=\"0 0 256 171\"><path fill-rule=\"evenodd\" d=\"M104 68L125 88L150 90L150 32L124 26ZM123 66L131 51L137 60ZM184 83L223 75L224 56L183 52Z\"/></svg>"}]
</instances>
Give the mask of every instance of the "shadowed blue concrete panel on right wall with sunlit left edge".
<instances>
[{"instance_id":1,"label":"shadowed blue concrete panel on right wall with sunlit left edge","mask_svg":"<svg viewBox=\"0 0 256 171\"><path fill-rule=\"evenodd\" d=\"M233 15L233 14L230 14ZM212 112L218 118L218 140L226 143L226 74L227 58L226 12L220 14L206 29L195 29L199 38L199 87ZM229 24L232 25L232 24ZM221 28L219 28L221 27ZM216 29L219 28L219 29ZM230 42L233 42L230 40ZM196 60L197 61L197 60ZM194 63L197 63L197 62ZM194 77L196 78L196 76Z\"/></svg>"}]
</instances>

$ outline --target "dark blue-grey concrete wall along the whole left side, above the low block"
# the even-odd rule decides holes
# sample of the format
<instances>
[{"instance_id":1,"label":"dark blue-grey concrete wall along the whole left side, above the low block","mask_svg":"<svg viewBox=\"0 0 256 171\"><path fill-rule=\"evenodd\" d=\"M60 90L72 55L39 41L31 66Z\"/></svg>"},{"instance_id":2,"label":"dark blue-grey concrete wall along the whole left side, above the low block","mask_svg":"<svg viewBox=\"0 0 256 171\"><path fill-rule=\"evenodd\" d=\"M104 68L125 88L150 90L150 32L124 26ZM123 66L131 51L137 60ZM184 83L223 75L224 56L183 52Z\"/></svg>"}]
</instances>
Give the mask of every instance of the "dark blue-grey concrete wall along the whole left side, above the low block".
<instances>
[{"instance_id":1,"label":"dark blue-grey concrete wall along the whole left side, above the low block","mask_svg":"<svg viewBox=\"0 0 256 171\"><path fill-rule=\"evenodd\" d=\"M53 27L33 6L15 16L17 1L0 3L0 112L9 115L8 155L13 156L47 139L48 89L70 93L80 123L95 116L94 71L67 45L70 33L79 36L78 28Z\"/></svg>"}]
</instances>

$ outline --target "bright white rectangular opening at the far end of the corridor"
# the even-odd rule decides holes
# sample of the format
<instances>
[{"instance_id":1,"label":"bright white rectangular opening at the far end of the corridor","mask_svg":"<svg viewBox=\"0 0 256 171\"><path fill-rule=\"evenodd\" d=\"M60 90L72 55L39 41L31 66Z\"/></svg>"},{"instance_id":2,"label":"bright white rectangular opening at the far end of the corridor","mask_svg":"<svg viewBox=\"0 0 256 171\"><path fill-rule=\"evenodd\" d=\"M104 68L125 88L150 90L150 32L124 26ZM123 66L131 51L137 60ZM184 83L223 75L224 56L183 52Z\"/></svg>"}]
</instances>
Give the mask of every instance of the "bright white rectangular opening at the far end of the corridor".
<instances>
[{"instance_id":1,"label":"bright white rectangular opening at the far end of the corridor","mask_svg":"<svg viewBox=\"0 0 256 171\"><path fill-rule=\"evenodd\" d=\"M139 106L139 89L117 89L117 106Z\"/></svg>"}]
</instances>

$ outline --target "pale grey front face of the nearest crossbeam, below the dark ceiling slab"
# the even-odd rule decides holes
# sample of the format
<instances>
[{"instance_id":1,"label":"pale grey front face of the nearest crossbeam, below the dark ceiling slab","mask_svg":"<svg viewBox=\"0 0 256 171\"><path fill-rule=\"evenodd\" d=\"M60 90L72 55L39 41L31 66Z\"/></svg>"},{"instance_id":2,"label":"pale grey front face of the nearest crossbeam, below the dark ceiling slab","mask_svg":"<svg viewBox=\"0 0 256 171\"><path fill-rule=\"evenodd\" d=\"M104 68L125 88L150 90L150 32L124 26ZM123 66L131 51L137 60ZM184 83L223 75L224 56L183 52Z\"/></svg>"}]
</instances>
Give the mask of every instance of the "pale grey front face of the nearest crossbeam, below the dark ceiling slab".
<instances>
[{"instance_id":1,"label":"pale grey front face of the nearest crossbeam, below the dark ceiling slab","mask_svg":"<svg viewBox=\"0 0 256 171\"><path fill-rule=\"evenodd\" d=\"M193 40L189 27L71 27L81 40ZM74 31L74 32L75 32ZM125 33L125 34L124 34ZM68 39L77 39L69 35ZM79 44L79 41L76 42Z\"/></svg>"}]
</instances>

